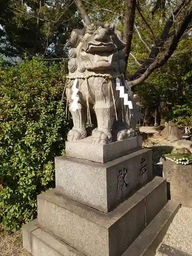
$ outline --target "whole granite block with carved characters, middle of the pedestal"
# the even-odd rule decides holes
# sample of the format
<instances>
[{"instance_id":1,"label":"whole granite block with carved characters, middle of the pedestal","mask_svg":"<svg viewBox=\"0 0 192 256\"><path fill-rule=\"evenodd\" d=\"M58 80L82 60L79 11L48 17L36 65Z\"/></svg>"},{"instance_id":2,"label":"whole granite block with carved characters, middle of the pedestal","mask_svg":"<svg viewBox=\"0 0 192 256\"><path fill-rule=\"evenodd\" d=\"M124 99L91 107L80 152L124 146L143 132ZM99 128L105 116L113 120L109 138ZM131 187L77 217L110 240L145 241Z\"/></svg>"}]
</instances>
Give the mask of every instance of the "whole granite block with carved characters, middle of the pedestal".
<instances>
[{"instance_id":1,"label":"whole granite block with carved characters, middle of the pedestal","mask_svg":"<svg viewBox=\"0 0 192 256\"><path fill-rule=\"evenodd\" d=\"M143 174L142 165L146 169ZM104 164L66 156L55 158L56 187L61 193L104 212L114 209L152 178L152 151L148 149Z\"/></svg>"}]
</instances>

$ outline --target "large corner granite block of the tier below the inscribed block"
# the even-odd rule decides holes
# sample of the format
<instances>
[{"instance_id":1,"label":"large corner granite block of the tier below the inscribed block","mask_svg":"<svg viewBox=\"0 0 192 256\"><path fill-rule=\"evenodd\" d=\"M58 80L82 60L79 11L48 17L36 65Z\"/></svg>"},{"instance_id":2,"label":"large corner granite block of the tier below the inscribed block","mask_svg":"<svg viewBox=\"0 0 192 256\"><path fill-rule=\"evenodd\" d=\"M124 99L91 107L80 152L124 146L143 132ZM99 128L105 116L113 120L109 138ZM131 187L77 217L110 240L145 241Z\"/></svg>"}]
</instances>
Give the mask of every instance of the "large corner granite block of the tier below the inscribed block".
<instances>
[{"instance_id":1,"label":"large corner granite block of the tier below the inscribed block","mask_svg":"<svg viewBox=\"0 0 192 256\"><path fill-rule=\"evenodd\" d=\"M144 230L145 199L157 193L154 187L162 182L163 178L154 178L152 191L143 187L108 214L65 197L54 188L37 197L38 223L87 256L95 252L121 256Z\"/></svg>"}]
</instances>

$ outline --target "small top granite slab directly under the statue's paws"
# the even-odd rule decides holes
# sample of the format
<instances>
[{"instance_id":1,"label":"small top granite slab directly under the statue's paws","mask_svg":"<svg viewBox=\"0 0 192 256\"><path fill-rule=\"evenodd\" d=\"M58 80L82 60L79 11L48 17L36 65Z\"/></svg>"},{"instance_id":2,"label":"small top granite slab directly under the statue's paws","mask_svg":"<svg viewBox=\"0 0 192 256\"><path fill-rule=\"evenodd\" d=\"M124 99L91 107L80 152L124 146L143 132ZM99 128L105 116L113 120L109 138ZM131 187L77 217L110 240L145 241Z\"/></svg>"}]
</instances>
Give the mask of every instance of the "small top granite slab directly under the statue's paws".
<instances>
[{"instance_id":1,"label":"small top granite slab directly under the statue's paws","mask_svg":"<svg viewBox=\"0 0 192 256\"><path fill-rule=\"evenodd\" d=\"M66 156L105 163L118 157L141 149L142 137L137 136L126 140L120 140L109 144L94 145L90 143L90 137L79 141L66 141Z\"/></svg>"}]
</instances>

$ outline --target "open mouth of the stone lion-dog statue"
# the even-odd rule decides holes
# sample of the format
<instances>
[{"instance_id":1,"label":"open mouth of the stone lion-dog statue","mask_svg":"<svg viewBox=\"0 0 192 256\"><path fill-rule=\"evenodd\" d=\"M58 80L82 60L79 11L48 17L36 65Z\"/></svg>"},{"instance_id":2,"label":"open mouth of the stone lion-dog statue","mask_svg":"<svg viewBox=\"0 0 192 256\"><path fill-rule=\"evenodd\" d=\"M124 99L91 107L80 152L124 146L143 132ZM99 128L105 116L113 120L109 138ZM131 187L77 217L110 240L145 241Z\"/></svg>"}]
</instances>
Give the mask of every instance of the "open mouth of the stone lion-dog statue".
<instances>
[{"instance_id":1,"label":"open mouth of the stone lion-dog statue","mask_svg":"<svg viewBox=\"0 0 192 256\"><path fill-rule=\"evenodd\" d=\"M116 46L113 42L88 42L86 52L87 53L95 53L95 52L111 52L116 50Z\"/></svg>"}]
</instances>

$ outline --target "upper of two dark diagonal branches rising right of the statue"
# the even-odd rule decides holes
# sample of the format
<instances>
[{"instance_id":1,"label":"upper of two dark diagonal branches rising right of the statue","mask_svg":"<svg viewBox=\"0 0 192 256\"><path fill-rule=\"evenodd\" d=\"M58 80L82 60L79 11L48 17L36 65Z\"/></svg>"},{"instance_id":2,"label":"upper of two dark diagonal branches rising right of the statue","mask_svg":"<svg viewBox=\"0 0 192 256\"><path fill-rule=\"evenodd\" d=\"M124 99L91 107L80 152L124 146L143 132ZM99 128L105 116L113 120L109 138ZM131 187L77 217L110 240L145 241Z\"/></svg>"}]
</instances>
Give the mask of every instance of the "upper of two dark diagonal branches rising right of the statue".
<instances>
[{"instance_id":1,"label":"upper of two dark diagonal branches rising right of the statue","mask_svg":"<svg viewBox=\"0 0 192 256\"><path fill-rule=\"evenodd\" d=\"M130 80L135 80L139 76L141 76L146 71L146 69L153 63L153 61L156 59L157 55L159 54L161 48L163 47L165 41L167 40L167 38L169 36L170 29L173 26L173 23L174 23L173 15L176 16L179 13L179 11L184 6L185 2L186 2L186 0L182 0L180 5L175 8L172 15L168 18L168 20L165 24L164 30L163 30L160 38L157 40L155 46L152 48L152 51L151 51L150 55L148 56L147 60L143 63L141 68L131 77Z\"/></svg>"}]
</instances>

